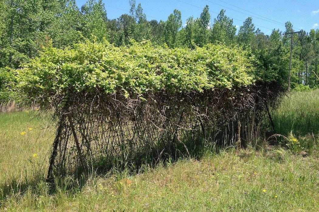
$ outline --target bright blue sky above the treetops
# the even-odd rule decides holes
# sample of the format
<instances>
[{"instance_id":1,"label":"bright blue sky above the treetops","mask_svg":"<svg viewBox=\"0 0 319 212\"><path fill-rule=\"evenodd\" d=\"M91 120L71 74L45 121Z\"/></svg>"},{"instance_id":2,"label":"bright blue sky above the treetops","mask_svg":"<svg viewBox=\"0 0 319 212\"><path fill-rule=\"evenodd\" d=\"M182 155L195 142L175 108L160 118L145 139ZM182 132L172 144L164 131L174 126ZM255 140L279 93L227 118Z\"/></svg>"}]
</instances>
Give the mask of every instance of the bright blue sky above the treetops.
<instances>
[{"instance_id":1,"label":"bright blue sky above the treetops","mask_svg":"<svg viewBox=\"0 0 319 212\"><path fill-rule=\"evenodd\" d=\"M85 0L76 1L79 7L86 2ZM108 18L111 19L118 18L123 13L129 13L130 10L129 0L103 0L103 3L105 4ZM256 28L258 27L266 34L270 34L273 28L284 31L285 27L282 24L286 21L292 22L295 31L303 29L309 32L312 28L319 28L319 0L136 0L136 3L142 4L148 20L166 20L174 9L178 9L182 12L182 20L183 24L185 24L186 19L190 16L199 17L204 6L208 4L212 21L213 18L217 17L221 9L226 10L226 15L233 18L234 25L237 26L241 26L242 21L247 17L255 16L258 18L252 17L253 23L259 25Z\"/></svg>"}]
</instances>

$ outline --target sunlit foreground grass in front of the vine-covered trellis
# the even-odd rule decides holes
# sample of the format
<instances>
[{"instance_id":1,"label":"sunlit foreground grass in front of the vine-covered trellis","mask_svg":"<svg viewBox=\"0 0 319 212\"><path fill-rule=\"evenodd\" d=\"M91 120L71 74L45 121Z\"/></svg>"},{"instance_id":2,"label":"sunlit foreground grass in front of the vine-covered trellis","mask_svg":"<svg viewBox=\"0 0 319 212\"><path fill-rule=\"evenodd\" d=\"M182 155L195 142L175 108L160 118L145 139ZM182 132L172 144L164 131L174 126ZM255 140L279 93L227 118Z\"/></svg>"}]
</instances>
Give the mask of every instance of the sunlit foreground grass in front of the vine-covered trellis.
<instances>
[{"instance_id":1,"label":"sunlit foreground grass in front of the vine-covered trellis","mask_svg":"<svg viewBox=\"0 0 319 212\"><path fill-rule=\"evenodd\" d=\"M72 180L66 179L50 194L39 182L3 203L7 210L317 211L318 168L317 158L282 149L231 149L199 161L145 168L140 175L123 174L123 180L92 178L81 190L67 189Z\"/></svg>"}]
</instances>

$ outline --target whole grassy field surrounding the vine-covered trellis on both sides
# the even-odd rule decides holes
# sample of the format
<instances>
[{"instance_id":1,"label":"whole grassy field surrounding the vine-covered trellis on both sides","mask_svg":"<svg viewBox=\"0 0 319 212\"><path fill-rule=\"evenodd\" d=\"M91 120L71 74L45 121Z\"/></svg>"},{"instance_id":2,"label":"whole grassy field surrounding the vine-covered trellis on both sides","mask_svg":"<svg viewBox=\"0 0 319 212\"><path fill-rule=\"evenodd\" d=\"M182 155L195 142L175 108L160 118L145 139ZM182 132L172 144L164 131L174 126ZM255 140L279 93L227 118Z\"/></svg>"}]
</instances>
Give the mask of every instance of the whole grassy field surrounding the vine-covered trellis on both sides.
<instances>
[{"instance_id":1,"label":"whole grassy field surrounding the vine-covered trellis on both sides","mask_svg":"<svg viewBox=\"0 0 319 212\"><path fill-rule=\"evenodd\" d=\"M318 110L312 91L288 96L272 112L288 146L206 152L136 175L66 178L53 189L44 181L50 128L28 111L0 113L0 210L319 211Z\"/></svg>"}]
</instances>

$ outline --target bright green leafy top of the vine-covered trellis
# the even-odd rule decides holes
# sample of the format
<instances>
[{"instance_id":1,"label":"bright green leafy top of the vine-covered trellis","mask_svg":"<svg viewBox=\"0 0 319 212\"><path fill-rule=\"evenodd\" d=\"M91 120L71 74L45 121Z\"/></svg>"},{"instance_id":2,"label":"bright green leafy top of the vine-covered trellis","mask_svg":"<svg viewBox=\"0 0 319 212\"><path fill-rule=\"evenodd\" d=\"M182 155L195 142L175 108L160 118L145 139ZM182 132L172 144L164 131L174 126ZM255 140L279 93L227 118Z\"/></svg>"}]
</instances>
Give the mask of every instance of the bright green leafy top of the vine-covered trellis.
<instances>
[{"instance_id":1,"label":"bright green leafy top of the vine-covered trellis","mask_svg":"<svg viewBox=\"0 0 319 212\"><path fill-rule=\"evenodd\" d=\"M150 42L129 47L83 43L72 48L48 47L20 70L30 97L50 100L68 92L202 92L233 88L256 80L255 59L240 47L207 45L196 50L163 48Z\"/></svg>"}]
</instances>

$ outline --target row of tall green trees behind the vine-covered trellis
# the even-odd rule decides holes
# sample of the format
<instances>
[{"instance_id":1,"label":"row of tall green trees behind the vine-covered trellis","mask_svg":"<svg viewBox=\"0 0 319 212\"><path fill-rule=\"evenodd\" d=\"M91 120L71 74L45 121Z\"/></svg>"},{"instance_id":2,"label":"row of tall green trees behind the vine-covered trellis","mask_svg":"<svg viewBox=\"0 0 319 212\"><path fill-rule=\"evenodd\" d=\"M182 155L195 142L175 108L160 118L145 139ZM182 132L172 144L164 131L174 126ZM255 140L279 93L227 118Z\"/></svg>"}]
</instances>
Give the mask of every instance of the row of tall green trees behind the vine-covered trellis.
<instances>
[{"instance_id":1,"label":"row of tall green trees behind the vine-covered trellis","mask_svg":"<svg viewBox=\"0 0 319 212\"><path fill-rule=\"evenodd\" d=\"M233 20L221 10L213 23L209 6L199 18L189 17L182 25L182 14L174 10L166 21L146 19L141 4L130 0L130 14L109 19L102 0L88 0L78 8L75 0L0 0L0 68L18 68L35 57L42 46L72 46L85 39L107 40L116 46L130 45L132 40L151 40L170 48L196 48L207 43L223 42L251 48L259 66L272 72L288 73L290 35L274 29L266 35L247 18L237 32ZM293 35L292 85L294 89L318 88L319 30ZM266 74L266 75L267 75Z\"/></svg>"}]
</instances>

